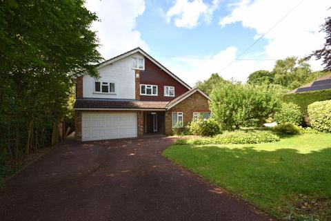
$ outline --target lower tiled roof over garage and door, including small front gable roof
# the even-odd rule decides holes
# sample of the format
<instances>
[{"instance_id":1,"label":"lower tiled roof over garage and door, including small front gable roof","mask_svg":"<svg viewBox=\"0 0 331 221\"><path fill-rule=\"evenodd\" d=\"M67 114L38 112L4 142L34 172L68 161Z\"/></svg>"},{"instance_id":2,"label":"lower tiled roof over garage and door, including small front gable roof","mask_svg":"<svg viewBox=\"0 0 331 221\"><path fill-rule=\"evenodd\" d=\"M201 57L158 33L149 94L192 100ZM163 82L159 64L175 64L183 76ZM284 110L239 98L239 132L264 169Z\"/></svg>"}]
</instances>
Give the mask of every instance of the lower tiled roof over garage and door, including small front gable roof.
<instances>
[{"instance_id":1,"label":"lower tiled roof over garage and door, including small front gable roof","mask_svg":"<svg viewBox=\"0 0 331 221\"><path fill-rule=\"evenodd\" d=\"M209 99L208 95L203 93L198 88L192 88L183 95L173 99L171 102L152 102L152 101L140 101L137 99L99 99L99 98L77 98L74 103L76 110L160 110L166 111L173 106L176 106L184 99L190 97L194 93L201 93L205 98Z\"/></svg>"}]
</instances>

